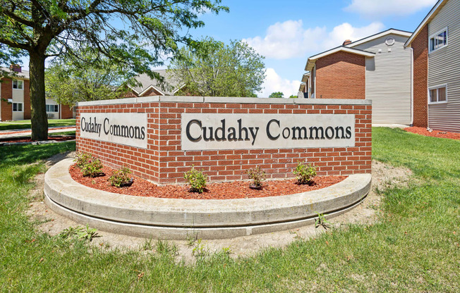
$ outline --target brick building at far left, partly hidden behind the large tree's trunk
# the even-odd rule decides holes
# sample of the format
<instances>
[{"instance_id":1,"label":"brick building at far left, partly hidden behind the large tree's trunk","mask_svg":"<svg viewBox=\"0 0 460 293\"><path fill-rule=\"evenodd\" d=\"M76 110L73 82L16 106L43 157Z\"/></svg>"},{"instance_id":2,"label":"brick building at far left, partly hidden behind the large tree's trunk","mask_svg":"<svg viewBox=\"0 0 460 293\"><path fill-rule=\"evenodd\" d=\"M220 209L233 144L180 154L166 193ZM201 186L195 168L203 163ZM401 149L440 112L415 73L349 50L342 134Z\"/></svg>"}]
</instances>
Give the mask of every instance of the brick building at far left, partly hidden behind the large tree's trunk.
<instances>
[{"instance_id":1,"label":"brick building at far left, partly hidden behind the large tree's trunk","mask_svg":"<svg viewBox=\"0 0 460 293\"><path fill-rule=\"evenodd\" d=\"M15 73L12 78L2 77L0 82L0 121L30 119L30 80L28 70L20 66L2 68ZM53 99L46 100L50 119L75 118L73 109L59 105Z\"/></svg>"}]
</instances>

